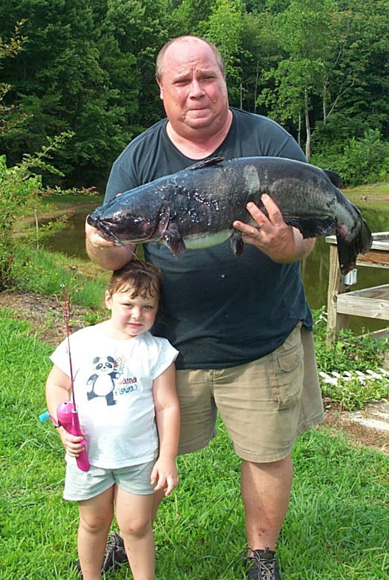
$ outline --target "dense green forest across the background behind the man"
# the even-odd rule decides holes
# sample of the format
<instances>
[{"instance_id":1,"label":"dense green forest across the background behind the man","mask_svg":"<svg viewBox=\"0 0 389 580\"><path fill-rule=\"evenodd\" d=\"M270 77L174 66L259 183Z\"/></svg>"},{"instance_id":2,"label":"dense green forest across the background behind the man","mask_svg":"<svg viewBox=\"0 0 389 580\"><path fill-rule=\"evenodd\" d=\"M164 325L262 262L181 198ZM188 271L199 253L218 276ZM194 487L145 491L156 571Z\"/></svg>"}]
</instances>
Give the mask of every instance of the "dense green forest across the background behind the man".
<instances>
[{"instance_id":1,"label":"dense green forest across the background behind the man","mask_svg":"<svg viewBox=\"0 0 389 580\"><path fill-rule=\"evenodd\" d=\"M64 176L47 184L104 190L113 160L164 116L156 55L197 34L221 50L230 104L280 122L315 165L346 185L389 175L389 0L7 0L0 36L0 151L13 166L47 137ZM1 93L0 93L1 94ZM2 107L1 107L2 106ZM13 110L13 114L16 112ZM2 134L1 134L2 133Z\"/></svg>"}]
</instances>

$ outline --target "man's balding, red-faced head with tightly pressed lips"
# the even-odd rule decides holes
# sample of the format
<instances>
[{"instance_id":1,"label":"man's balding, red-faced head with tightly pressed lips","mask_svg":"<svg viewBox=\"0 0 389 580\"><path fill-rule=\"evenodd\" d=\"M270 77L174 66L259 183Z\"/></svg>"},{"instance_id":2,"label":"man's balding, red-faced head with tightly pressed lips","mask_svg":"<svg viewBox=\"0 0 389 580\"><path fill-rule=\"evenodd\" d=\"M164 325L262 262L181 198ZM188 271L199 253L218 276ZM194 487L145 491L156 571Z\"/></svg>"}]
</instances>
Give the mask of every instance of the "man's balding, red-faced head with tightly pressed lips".
<instances>
[{"instance_id":1,"label":"man's balding, red-faced head with tightly pressed lips","mask_svg":"<svg viewBox=\"0 0 389 580\"><path fill-rule=\"evenodd\" d=\"M211 136L226 123L225 79L210 46L199 39L170 45L163 57L160 97L174 131L190 139Z\"/></svg>"}]
</instances>

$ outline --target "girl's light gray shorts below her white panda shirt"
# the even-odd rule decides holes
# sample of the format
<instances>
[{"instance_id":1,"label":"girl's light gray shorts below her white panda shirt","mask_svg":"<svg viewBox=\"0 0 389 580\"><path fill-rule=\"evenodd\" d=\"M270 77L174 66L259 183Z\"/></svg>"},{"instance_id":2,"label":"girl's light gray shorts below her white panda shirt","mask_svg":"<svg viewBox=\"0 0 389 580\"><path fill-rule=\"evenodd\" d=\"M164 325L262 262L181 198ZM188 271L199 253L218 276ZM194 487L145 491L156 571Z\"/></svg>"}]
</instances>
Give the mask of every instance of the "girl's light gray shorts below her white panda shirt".
<instances>
[{"instance_id":1,"label":"girl's light gray shorts below her white panda shirt","mask_svg":"<svg viewBox=\"0 0 389 580\"><path fill-rule=\"evenodd\" d=\"M154 493L150 476L156 459L141 465L120 467L120 469L102 469L90 466L83 472L74 463L67 463L65 475L64 499L82 501L94 498L112 485L134 495L151 495Z\"/></svg>"}]
</instances>

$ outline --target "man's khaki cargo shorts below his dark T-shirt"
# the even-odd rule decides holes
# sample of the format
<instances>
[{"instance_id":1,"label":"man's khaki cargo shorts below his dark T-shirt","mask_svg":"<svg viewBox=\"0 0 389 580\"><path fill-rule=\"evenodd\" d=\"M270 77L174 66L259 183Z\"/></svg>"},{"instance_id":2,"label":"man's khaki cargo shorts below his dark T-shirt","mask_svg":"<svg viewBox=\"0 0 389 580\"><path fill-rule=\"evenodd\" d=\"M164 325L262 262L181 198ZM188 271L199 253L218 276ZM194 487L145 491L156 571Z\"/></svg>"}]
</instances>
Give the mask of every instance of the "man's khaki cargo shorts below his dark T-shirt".
<instances>
[{"instance_id":1,"label":"man's khaki cargo shorts below his dark T-shirt","mask_svg":"<svg viewBox=\"0 0 389 580\"><path fill-rule=\"evenodd\" d=\"M215 437L219 411L234 451L267 463L284 458L296 438L324 418L312 333L301 323L273 353L226 369L177 371L179 454Z\"/></svg>"}]
</instances>

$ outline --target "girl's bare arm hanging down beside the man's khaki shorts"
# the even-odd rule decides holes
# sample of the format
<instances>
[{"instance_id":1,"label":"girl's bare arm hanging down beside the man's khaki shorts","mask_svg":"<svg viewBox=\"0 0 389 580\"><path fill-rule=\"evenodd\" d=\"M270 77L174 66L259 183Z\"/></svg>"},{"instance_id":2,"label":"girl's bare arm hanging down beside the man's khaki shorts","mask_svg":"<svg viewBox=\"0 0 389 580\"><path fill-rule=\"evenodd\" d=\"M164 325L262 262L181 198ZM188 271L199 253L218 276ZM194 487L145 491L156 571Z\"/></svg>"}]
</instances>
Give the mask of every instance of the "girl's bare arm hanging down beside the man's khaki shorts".
<instances>
[{"instance_id":1,"label":"girl's bare arm hanging down beside the man's khaki shorts","mask_svg":"<svg viewBox=\"0 0 389 580\"><path fill-rule=\"evenodd\" d=\"M151 474L154 490L169 495L178 484L177 457L179 441L179 402L175 390L174 362L153 381L155 415L159 435L159 457Z\"/></svg>"}]
</instances>

